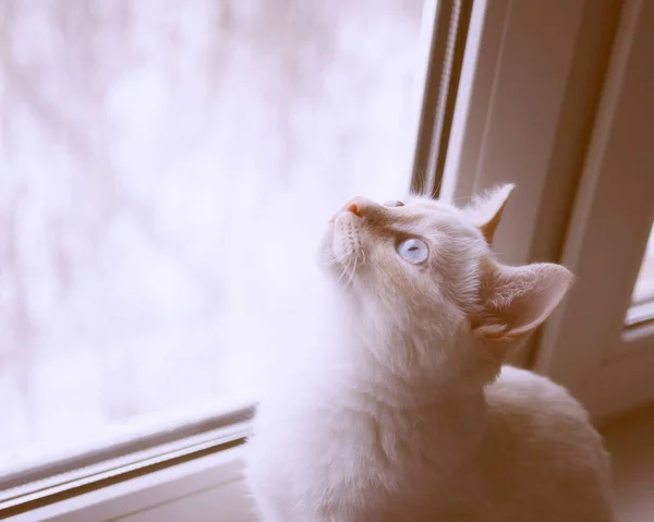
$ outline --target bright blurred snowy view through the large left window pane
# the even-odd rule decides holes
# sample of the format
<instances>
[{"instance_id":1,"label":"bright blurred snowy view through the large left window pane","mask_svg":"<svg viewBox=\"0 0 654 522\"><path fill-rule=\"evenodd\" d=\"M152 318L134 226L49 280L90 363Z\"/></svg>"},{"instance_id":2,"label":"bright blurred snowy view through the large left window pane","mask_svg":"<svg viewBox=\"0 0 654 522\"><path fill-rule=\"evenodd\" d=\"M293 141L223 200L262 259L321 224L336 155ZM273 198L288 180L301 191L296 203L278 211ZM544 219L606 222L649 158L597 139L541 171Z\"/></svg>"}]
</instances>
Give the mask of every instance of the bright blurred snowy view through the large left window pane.
<instances>
[{"instance_id":1,"label":"bright blurred snowy view through the large left window pane","mask_svg":"<svg viewBox=\"0 0 654 522\"><path fill-rule=\"evenodd\" d=\"M256 388L290 259L409 185L421 12L0 0L0 475Z\"/></svg>"}]
</instances>

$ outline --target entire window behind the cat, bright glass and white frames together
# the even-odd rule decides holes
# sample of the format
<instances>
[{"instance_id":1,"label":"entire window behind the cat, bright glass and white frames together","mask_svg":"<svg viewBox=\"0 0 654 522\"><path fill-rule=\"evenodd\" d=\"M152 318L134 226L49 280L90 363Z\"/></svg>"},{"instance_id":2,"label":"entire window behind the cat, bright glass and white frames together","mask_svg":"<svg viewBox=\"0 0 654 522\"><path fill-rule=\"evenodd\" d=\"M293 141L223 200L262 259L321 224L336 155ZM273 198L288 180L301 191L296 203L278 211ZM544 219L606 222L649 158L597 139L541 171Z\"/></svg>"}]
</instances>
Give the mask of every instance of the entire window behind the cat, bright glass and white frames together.
<instances>
[{"instance_id":1,"label":"entire window behind the cat, bright glass and white frames together","mask_svg":"<svg viewBox=\"0 0 654 522\"><path fill-rule=\"evenodd\" d=\"M645 268L630 293L653 16L644 0L0 2L0 518L49 519L34 503L87 490L71 475L97 489L135 461L156 464L118 486L161 462L167 485L78 520L166 517L178 489L226 484L186 457L229 445L207 459L237 484L267 327L311 280L288 260L344 198L410 180L455 201L517 183L500 258L578 276L520 362L594 415L652 400L652 324L623 319L649 303ZM37 479L35 502L2 491Z\"/></svg>"}]
</instances>

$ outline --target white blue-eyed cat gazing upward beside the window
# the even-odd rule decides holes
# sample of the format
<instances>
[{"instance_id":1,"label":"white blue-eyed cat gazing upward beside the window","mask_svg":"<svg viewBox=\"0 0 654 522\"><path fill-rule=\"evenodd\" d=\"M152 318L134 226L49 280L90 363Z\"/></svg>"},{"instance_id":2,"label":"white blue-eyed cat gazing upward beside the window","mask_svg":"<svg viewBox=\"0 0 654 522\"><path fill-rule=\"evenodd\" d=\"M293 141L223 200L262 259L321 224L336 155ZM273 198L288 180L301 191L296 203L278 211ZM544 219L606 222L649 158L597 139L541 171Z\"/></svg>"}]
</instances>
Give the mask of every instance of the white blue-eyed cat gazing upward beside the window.
<instances>
[{"instance_id":1,"label":"white blue-eyed cat gazing upward beside the window","mask_svg":"<svg viewBox=\"0 0 654 522\"><path fill-rule=\"evenodd\" d=\"M263 520L613 520L609 459L583 408L501 367L571 281L558 265L493 256L511 190L465 208L354 198L334 217L335 306L316 307L320 331L296 325L289 344L302 351L263 397L249 441Z\"/></svg>"}]
</instances>

